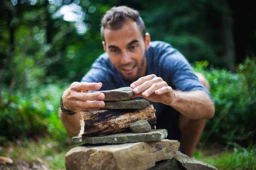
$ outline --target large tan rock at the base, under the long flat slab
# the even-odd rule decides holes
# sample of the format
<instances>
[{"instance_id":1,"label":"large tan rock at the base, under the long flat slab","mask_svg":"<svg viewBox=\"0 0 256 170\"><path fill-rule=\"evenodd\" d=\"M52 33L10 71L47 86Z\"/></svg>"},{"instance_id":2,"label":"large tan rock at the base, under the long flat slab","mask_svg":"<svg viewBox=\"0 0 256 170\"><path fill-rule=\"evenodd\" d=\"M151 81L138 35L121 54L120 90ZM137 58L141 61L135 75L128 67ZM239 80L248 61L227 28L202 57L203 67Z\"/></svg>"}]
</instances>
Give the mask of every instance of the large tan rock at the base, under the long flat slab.
<instances>
[{"instance_id":1,"label":"large tan rock at the base, under the long flat slab","mask_svg":"<svg viewBox=\"0 0 256 170\"><path fill-rule=\"evenodd\" d=\"M163 139L114 145L82 145L65 156L67 170L146 170L156 161L172 159L180 143Z\"/></svg>"}]
</instances>

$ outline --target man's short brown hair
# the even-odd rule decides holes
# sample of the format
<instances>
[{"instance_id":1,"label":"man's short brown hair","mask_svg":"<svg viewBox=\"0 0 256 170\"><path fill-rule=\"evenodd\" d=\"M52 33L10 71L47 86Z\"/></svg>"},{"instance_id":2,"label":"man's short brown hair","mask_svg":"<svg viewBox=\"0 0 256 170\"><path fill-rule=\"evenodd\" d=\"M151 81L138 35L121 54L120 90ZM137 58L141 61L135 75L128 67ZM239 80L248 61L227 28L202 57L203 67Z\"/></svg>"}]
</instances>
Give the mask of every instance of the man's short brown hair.
<instances>
[{"instance_id":1,"label":"man's short brown hair","mask_svg":"<svg viewBox=\"0 0 256 170\"><path fill-rule=\"evenodd\" d=\"M105 28L113 30L120 29L128 19L134 20L138 24L140 32L145 40L145 25L142 18L140 17L139 12L127 6L114 6L102 17L100 28L102 39L105 40Z\"/></svg>"}]
</instances>

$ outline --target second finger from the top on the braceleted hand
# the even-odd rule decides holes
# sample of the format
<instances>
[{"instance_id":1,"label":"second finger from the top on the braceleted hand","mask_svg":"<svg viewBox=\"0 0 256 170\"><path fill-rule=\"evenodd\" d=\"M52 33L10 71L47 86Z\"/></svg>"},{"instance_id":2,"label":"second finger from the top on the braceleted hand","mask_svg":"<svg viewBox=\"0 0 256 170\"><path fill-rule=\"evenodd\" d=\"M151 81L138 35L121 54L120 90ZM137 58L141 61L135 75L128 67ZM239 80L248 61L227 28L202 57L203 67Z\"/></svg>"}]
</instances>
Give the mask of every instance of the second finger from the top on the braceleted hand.
<instances>
[{"instance_id":1,"label":"second finger from the top on the braceleted hand","mask_svg":"<svg viewBox=\"0 0 256 170\"><path fill-rule=\"evenodd\" d=\"M77 92L75 95L76 95L76 99L81 100L81 101L105 99L105 95L103 93L79 93L79 92Z\"/></svg>"}]
</instances>

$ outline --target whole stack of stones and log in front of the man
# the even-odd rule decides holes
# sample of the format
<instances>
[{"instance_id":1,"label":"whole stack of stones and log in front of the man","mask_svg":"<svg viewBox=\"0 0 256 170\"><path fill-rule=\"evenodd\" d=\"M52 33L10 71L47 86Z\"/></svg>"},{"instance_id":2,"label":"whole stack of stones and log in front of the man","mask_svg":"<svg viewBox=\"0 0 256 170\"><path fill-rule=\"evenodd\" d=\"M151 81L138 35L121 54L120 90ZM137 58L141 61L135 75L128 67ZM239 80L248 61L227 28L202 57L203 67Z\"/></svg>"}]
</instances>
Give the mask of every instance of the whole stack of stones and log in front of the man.
<instances>
[{"instance_id":1,"label":"whole stack of stones and log in front of the man","mask_svg":"<svg viewBox=\"0 0 256 170\"><path fill-rule=\"evenodd\" d=\"M67 170L217 170L180 153L166 129L155 129L153 105L131 99L132 88L100 92L105 107L81 112L81 130L72 142L82 145L66 154Z\"/></svg>"}]
</instances>

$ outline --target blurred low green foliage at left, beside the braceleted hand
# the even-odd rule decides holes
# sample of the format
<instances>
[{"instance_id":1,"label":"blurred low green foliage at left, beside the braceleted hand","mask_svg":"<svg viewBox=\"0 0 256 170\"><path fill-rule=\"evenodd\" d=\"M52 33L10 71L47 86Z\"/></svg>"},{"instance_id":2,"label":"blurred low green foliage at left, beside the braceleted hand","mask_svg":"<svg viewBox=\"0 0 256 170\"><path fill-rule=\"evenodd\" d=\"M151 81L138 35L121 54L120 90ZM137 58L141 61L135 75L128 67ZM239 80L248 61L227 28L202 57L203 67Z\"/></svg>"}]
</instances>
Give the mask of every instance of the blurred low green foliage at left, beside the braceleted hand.
<instances>
[{"instance_id":1,"label":"blurred low green foliage at left, beside the braceleted hand","mask_svg":"<svg viewBox=\"0 0 256 170\"><path fill-rule=\"evenodd\" d=\"M66 142L67 133L58 117L59 97L63 88L46 85L30 94L1 91L0 137L6 139L35 137L49 134Z\"/></svg>"}]
</instances>

